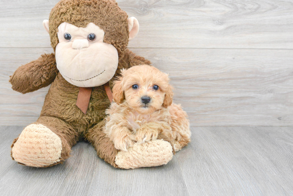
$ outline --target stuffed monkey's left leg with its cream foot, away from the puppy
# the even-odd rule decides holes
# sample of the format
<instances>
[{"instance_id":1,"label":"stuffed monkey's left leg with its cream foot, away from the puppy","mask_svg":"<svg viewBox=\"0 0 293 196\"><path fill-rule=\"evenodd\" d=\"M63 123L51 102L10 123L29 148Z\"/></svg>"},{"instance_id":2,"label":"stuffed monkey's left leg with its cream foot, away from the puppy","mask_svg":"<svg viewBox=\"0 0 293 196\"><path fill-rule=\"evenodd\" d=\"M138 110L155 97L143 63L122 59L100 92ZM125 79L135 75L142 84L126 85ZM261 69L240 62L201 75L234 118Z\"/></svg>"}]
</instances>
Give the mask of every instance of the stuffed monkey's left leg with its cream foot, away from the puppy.
<instances>
[{"instance_id":1,"label":"stuffed monkey's left leg with its cream foot, away from the puppy","mask_svg":"<svg viewBox=\"0 0 293 196\"><path fill-rule=\"evenodd\" d=\"M13 160L32 167L49 167L63 162L78 140L77 132L59 118L41 116L25 127L11 146Z\"/></svg>"}]
</instances>

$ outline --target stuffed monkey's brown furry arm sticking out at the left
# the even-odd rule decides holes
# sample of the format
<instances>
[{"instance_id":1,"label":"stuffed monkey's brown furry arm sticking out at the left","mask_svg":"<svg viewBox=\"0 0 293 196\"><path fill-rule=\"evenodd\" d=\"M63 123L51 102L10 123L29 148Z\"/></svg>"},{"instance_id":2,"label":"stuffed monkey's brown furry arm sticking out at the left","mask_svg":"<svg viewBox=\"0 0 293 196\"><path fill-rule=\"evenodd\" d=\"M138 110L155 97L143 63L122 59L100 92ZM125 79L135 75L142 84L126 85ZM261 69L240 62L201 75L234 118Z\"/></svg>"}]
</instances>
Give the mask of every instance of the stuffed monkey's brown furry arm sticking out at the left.
<instances>
[{"instance_id":1,"label":"stuffed monkey's brown furry arm sticking out at the left","mask_svg":"<svg viewBox=\"0 0 293 196\"><path fill-rule=\"evenodd\" d=\"M42 54L37 60L16 69L9 82L13 90L24 94L48 86L57 73L55 54Z\"/></svg>"}]
</instances>

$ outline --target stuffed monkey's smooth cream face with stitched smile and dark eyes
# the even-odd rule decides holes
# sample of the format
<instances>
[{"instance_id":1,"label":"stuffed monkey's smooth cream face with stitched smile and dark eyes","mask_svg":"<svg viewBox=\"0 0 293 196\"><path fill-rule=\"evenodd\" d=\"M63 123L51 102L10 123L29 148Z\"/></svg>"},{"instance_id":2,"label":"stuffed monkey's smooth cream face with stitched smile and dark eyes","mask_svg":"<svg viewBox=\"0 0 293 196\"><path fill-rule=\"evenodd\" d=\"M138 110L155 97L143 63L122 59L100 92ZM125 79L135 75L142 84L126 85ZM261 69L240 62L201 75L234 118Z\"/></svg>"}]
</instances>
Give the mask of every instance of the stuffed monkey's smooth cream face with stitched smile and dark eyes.
<instances>
[{"instance_id":1,"label":"stuffed monkey's smooth cream face with stitched smile and dark eyes","mask_svg":"<svg viewBox=\"0 0 293 196\"><path fill-rule=\"evenodd\" d=\"M100 86L111 80L118 66L118 52L103 42L104 35L92 22L85 28L67 22L59 25L55 57L65 80L80 87Z\"/></svg>"}]
</instances>

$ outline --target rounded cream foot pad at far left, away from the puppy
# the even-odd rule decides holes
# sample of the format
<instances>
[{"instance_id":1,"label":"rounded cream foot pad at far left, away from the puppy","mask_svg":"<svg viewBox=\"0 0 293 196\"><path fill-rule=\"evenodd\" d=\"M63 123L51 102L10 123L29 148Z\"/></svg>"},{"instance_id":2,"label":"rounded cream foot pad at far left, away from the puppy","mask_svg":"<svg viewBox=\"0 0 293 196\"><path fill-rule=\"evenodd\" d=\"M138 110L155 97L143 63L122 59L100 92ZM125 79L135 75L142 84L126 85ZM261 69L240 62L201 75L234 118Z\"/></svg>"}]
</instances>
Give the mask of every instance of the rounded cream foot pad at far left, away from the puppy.
<instances>
[{"instance_id":1,"label":"rounded cream foot pad at far left, away from the puppy","mask_svg":"<svg viewBox=\"0 0 293 196\"><path fill-rule=\"evenodd\" d=\"M45 167L60 161L61 139L42 124L30 124L22 131L12 148L17 162L33 167Z\"/></svg>"}]
</instances>

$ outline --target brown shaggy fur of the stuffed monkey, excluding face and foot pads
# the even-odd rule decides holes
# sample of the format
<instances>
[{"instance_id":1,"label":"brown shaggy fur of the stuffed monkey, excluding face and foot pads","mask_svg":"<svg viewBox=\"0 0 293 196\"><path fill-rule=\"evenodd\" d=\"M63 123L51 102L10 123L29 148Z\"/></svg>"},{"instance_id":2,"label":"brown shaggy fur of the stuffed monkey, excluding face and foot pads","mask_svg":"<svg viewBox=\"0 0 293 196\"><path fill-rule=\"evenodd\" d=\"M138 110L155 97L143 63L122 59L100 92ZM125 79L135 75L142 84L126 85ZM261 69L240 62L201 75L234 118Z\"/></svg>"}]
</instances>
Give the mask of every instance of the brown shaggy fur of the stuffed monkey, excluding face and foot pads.
<instances>
[{"instance_id":1,"label":"brown shaggy fur of the stuffed monkey, excluding face and foot pads","mask_svg":"<svg viewBox=\"0 0 293 196\"><path fill-rule=\"evenodd\" d=\"M114 45L119 56L118 69L114 77L119 75L121 68L150 64L149 60L135 55L126 48L129 33L127 14L120 10L115 1L61 0L57 3L49 18L49 33L54 50L58 43L57 27L62 22L77 27L85 27L89 22L94 22L105 31L104 42ZM113 85L113 78L109 81L110 87ZM115 156L118 151L103 133L102 128L105 124L105 110L110 105L103 86L93 88L87 113L84 114L76 106L79 87L68 83L58 73L54 54L44 54L39 59L19 67L11 76L10 83L14 90L22 93L35 91L52 83L41 115L35 123L47 126L61 138L60 160L67 159L71 147L78 140L85 139L94 145L99 157L117 167ZM17 139L14 142L16 141Z\"/></svg>"}]
</instances>

